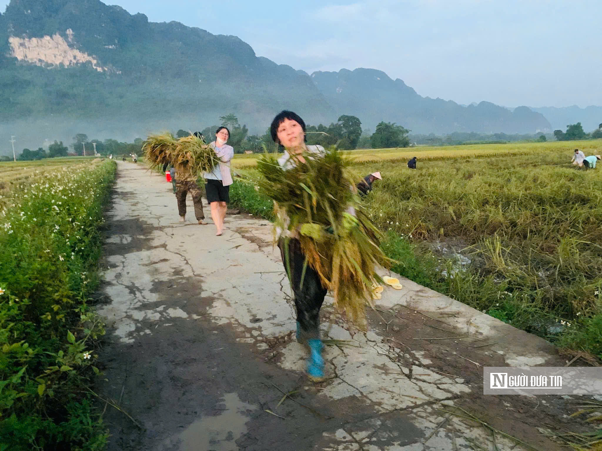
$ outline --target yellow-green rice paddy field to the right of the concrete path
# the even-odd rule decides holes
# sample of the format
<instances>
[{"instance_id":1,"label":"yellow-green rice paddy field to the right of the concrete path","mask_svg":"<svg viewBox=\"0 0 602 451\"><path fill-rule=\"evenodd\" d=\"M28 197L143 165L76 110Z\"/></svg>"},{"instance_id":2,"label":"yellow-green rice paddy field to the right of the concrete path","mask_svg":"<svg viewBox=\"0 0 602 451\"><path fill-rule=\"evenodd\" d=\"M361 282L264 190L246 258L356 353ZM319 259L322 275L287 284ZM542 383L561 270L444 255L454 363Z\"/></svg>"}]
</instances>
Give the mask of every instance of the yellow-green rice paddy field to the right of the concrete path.
<instances>
[{"instance_id":1,"label":"yellow-green rice paddy field to the right of the concrete path","mask_svg":"<svg viewBox=\"0 0 602 451\"><path fill-rule=\"evenodd\" d=\"M397 272L592 360L602 358L602 164L571 165L576 148L600 155L602 140L350 155L358 178L382 173L365 208ZM269 218L269 202L240 185L241 206Z\"/></svg>"}]
</instances>

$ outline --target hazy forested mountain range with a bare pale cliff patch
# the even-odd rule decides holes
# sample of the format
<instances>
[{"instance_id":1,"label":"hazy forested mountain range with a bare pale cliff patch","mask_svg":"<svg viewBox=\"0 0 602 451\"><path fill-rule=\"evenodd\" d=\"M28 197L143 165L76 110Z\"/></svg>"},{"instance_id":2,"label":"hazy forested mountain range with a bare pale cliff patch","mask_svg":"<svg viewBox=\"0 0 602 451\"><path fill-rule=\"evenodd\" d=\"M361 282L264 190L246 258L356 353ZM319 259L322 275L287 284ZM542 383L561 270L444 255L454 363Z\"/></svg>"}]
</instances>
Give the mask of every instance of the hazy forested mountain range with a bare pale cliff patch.
<instances>
[{"instance_id":1,"label":"hazy forested mountain range with a bare pale cliff patch","mask_svg":"<svg viewBox=\"0 0 602 451\"><path fill-rule=\"evenodd\" d=\"M311 124L350 114L364 127L384 120L413 133L552 129L528 108L421 97L378 70L310 77L256 57L235 36L148 22L99 0L11 0L0 14L0 126L19 149L70 143L75 133L133 140L203 129L229 112L262 133L284 108Z\"/></svg>"}]
</instances>

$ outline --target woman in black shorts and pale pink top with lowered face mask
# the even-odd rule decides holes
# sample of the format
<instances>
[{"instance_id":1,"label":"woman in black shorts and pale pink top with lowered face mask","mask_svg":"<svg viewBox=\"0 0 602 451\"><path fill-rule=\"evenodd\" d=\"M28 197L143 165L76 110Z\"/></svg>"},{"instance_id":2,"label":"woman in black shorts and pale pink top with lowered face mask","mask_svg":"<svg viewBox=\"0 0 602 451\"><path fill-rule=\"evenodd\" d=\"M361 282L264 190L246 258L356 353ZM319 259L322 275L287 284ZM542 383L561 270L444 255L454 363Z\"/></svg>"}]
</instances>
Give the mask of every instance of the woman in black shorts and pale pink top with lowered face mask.
<instances>
[{"instance_id":1,"label":"woman in black shorts and pale pink top with lowered face mask","mask_svg":"<svg viewBox=\"0 0 602 451\"><path fill-rule=\"evenodd\" d=\"M234 148L226 144L230 137L228 127L219 127L216 131L216 140L209 144L216 150L216 155L222 160L218 167L213 168L210 173L203 174L205 177L205 193L207 202L211 206L211 218L216 224L216 235L222 235L224 218L230 201L229 192L232 185L230 174L230 160L234 156Z\"/></svg>"}]
</instances>

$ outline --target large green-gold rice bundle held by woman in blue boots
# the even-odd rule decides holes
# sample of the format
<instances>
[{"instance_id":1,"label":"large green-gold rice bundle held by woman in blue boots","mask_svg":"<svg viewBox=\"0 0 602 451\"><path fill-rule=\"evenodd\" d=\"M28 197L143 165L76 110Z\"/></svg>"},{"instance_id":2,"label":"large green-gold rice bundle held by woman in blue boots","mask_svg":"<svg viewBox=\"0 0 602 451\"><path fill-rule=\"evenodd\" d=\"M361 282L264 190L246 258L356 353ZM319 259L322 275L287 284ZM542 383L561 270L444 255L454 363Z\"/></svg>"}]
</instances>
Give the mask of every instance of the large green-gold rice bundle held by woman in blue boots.
<instances>
[{"instance_id":1,"label":"large green-gold rice bundle held by woman in blue boots","mask_svg":"<svg viewBox=\"0 0 602 451\"><path fill-rule=\"evenodd\" d=\"M350 159L336 149L302 156L305 162L297 160L287 171L272 155L259 159L259 191L275 201L276 227L299 239L335 305L365 329L365 304L373 305L373 283L380 280L376 265L391 260L380 250L380 232L361 210L355 181L346 170ZM286 247L290 236L282 239Z\"/></svg>"}]
</instances>

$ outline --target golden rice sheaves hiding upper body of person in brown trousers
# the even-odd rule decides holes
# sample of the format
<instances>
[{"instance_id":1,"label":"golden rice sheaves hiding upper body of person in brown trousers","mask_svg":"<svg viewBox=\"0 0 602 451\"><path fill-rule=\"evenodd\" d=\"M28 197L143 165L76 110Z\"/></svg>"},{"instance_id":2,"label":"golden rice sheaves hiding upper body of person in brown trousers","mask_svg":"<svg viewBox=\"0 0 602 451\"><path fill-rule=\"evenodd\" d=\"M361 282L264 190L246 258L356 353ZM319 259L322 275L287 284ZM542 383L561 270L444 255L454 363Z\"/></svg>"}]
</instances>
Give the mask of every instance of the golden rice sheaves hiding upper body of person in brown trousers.
<instances>
[{"instance_id":1,"label":"golden rice sheaves hiding upper body of person in brown trousers","mask_svg":"<svg viewBox=\"0 0 602 451\"><path fill-rule=\"evenodd\" d=\"M215 149L194 135L179 140L171 133L150 135L142 149L150 165L173 164L178 173L211 172L220 162Z\"/></svg>"}]
</instances>

